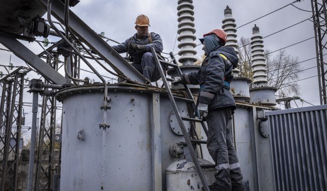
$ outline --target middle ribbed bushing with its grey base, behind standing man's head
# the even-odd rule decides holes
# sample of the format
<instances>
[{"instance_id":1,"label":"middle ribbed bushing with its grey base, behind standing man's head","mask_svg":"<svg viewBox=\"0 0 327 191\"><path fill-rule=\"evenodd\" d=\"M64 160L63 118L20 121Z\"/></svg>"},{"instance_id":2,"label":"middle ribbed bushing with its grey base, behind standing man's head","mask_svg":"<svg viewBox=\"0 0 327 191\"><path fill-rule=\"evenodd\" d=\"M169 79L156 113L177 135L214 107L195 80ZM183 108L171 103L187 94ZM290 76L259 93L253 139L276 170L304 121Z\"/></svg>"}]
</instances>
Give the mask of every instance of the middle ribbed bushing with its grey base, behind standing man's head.
<instances>
[{"instance_id":1,"label":"middle ribbed bushing with its grey base, behind standing man's head","mask_svg":"<svg viewBox=\"0 0 327 191\"><path fill-rule=\"evenodd\" d=\"M235 19L232 16L231 9L227 6L224 10L224 19L222 20L221 27L227 34L227 41L225 46L234 48L236 54L238 54L238 45L237 45L237 35L236 35L236 23ZM236 102L249 102L250 101L250 92L249 92L249 83L251 80L246 77L239 77L240 70L235 68L233 69L234 79L230 83L230 92L233 94L233 97Z\"/></svg>"}]
</instances>

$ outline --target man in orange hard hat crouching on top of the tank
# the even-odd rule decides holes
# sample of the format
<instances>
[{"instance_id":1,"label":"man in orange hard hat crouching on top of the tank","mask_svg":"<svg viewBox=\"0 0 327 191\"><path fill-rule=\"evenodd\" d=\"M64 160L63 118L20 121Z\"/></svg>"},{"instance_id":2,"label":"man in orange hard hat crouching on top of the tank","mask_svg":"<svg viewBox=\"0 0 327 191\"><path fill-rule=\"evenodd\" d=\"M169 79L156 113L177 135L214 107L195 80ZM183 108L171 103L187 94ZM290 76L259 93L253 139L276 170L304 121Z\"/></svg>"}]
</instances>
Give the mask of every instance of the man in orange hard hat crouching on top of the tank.
<instances>
[{"instance_id":1,"label":"man in orange hard hat crouching on top of the tank","mask_svg":"<svg viewBox=\"0 0 327 191\"><path fill-rule=\"evenodd\" d=\"M154 47L157 52L161 52L163 46L160 35L149 33L149 27L149 18L139 15L135 21L136 34L113 48L118 53L128 52L134 68L150 81L156 81L160 78L160 73L150 48Z\"/></svg>"}]
</instances>

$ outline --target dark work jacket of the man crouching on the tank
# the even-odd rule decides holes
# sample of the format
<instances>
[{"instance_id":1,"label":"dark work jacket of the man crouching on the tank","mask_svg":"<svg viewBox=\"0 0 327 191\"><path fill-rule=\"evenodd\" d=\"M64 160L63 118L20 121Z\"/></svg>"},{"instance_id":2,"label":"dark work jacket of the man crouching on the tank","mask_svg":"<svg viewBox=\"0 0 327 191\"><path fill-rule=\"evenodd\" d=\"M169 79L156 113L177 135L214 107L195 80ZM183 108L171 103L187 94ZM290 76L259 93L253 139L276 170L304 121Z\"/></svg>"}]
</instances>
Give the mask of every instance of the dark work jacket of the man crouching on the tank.
<instances>
[{"instance_id":1,"label":"dark work jacket of the man crouching on the tank","mask_svg":"<svg viewBox=\"0 0 327 191\"><path fill-rule=\"evenodd\" d=\"M125 42L122 42L121 44L117 46L112 46L113 49L115 49L118 53L124 53L128 52L128 54L131 57L131 61L134 64L141 64L142 56L145 52L151 52L151 47L154 47L154 49L158 52L162 52L163 46L162 46L162 40L160 35L156 33L150 33L152 37L152 43L149 42L148 36L143 37L141 40L137 39L136 34L134 34L132 37L125 40ZM132 44L138 44L138 45L145 45L145 51L132 51L131 47L128 47L128 45Z\"/></svg>"}]
</instances>

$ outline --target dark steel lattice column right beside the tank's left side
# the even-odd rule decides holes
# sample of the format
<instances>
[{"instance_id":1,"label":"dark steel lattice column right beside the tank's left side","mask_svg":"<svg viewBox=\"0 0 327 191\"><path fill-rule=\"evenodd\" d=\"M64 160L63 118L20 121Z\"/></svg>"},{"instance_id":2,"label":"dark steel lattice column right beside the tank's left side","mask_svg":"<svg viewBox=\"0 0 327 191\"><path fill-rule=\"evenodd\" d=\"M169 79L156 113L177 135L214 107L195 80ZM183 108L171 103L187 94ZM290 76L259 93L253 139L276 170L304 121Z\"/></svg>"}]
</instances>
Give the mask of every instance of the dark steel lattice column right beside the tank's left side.
<instances>
[{"instance_id":1,"label":"dark steel lattice column right beside the tank's left side","mask_svg":"<svg viewBox=\"0 0 327 191\"><path fill-rule=\"evenodd\" d=\"M47 63L53 69L58 70L58 54L47 55ZM44 83L49 83L44 80ZM45 91L47 88L45 88ZM53 177L57 173L59 165L54 164L54 135L56 134L56 100L54 96L43 96L41 108L40 130L37 144L37 159L35 172L35 189L52 190ZM47 121L49 120L49 121ZM48 159L43 155L47 153ZM45 162L47 161L47 162ZM45 181L46 180L46 181Z\"/></svg>"}]
</instances>

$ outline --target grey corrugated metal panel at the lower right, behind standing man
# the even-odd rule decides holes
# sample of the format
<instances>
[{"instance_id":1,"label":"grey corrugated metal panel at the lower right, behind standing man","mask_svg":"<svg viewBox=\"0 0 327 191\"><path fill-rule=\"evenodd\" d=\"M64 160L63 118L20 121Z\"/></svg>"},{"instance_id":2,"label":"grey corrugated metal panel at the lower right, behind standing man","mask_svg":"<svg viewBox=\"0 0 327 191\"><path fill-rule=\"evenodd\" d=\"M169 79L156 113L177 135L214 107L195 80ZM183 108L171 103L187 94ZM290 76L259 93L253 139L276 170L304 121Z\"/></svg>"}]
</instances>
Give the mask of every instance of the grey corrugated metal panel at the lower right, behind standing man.
<instances>
[{"instance_id":1,"label":"grey corrugated metal panel at the lower right, behind standing man","mask_svg":"<svg viewBox=\"0 0 327 191\"><path fill-rule=\"evenodd\" d=\"M276 190L327 190L327 105L267 112Z\"/></svg>"}]
</instances>

